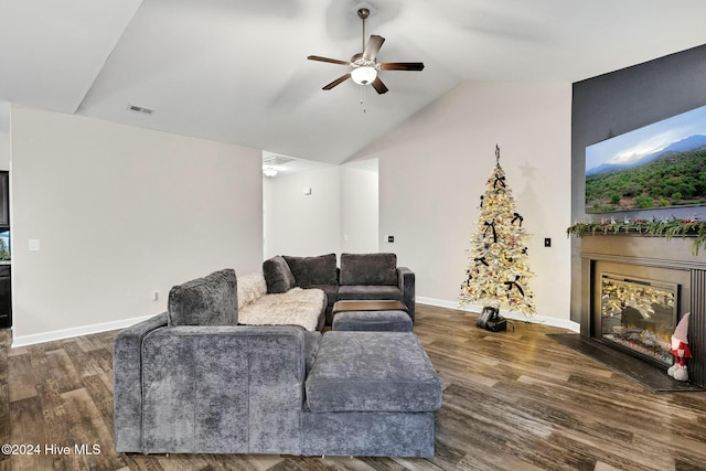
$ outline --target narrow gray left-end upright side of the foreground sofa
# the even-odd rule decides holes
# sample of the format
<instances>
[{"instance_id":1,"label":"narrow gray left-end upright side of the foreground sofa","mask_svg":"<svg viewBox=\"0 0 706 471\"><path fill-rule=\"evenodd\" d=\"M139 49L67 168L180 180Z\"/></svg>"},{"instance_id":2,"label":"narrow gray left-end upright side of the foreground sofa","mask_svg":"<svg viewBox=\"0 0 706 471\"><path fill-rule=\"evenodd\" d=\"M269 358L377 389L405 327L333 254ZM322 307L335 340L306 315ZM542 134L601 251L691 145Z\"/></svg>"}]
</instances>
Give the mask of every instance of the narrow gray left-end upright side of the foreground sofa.
<instances>
[{"instance_id":1,"label":"narrow gray left-end upright side of the foreground sofa","mask_svg":"<svg viewBox=\"0 0 706 471\"><path fill-rule=\"evenodd\" d=\"M114 430L118 452L141 450L142 340L167 325L167 312L120 331L113 343Z\"/></svg>"}]
</instances>

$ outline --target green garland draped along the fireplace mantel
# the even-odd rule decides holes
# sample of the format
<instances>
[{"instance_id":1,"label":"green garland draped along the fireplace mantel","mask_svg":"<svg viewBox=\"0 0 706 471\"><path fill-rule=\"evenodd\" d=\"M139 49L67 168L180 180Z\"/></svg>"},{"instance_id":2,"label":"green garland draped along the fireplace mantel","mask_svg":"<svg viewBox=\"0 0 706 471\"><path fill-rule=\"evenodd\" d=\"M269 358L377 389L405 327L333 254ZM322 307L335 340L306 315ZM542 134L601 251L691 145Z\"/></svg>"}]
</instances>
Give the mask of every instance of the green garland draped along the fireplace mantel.
<instances>
[{"instance_id":1,"label":"green garland draped along the fireplace mantel","mask_svg":"<svg viewBox=\"0 0 706 471\"><path fill-rule=\"evenodd\" d=\"M574 234L576 237L582 237L586 234L644 234L650 236L665 237L667 240L674 236L695 237L692 245L692 255L697 256L700 248L706 248L706 222L698 221L696 217L689 220L630 220L625 217L622 223L614 218L610 221L574 223L566 229L566 236Z\"/></svg>"}]
</instances>

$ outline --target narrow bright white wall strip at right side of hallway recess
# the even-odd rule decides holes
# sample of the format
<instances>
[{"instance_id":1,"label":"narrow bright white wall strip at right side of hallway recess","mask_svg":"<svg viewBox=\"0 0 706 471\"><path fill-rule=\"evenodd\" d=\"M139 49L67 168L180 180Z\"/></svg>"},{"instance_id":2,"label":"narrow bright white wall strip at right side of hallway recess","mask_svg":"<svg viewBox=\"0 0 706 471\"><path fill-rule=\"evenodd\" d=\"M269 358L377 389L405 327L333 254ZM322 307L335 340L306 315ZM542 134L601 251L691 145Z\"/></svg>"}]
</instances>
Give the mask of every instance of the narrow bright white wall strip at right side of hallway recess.
<instances>
[{"instance_id":1,"label":"narrow bright white wall strip at right side of hallway recess","mask_svg":"<svg viewBox=\"0 0 706 471\"><path fill-rule=\"evenodd\" d=\"M378 184L375 162L341 165L341 251L378 251Z\"/></svg>"}]
</instances>

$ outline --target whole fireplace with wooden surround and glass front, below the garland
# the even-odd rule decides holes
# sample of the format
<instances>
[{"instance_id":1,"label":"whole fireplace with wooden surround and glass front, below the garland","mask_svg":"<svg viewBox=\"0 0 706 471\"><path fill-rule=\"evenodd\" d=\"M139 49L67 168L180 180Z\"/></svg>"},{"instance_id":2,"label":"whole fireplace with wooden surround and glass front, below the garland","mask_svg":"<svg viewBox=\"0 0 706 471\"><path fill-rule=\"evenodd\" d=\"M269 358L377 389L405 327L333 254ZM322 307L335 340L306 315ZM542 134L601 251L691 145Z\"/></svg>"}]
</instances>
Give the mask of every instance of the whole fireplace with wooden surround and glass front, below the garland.
<instances>
[{"instance_id":1,"label":"whole fireplace with wooden surround and glass front, below the garland","mask_svg":"<svg viewBox=\"0 0 706 471\"><path fill-rule=\"evenodd\" d=\"M670 341L691 312L689 382L706 387L706 254L689 238L642 235L580 239L581 335L666 375Z\"/></svg>"}]
</instances>

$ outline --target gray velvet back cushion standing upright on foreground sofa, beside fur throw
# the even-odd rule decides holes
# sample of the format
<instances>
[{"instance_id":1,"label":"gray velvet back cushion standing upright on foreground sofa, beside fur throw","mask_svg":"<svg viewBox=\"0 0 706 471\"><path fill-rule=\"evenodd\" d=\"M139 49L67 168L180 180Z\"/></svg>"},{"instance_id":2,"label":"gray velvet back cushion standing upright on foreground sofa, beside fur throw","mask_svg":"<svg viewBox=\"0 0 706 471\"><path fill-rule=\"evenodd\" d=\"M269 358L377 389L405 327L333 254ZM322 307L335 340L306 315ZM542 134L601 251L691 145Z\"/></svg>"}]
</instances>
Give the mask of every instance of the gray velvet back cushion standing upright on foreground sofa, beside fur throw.
<instances>
[{"instance_id":1,"label":"gray velvet back cushion standing upright on foreground sofa, beside fur throw","mask_svg":"<svg viewBox=\"0 0 706 471\"><path fill-rule=\"evenodd\" d=\"M167 302L169 325L235 325L237 279L233 268L174 286Z\"/></svg>"}]
</instances>

